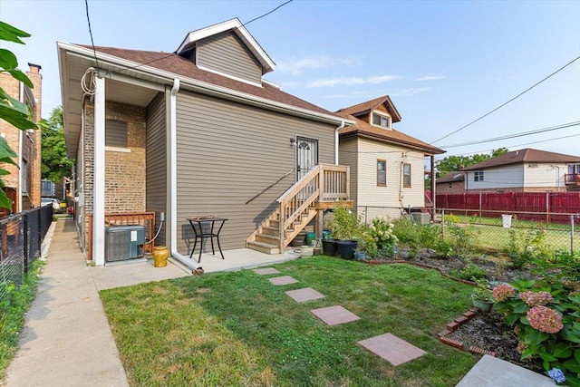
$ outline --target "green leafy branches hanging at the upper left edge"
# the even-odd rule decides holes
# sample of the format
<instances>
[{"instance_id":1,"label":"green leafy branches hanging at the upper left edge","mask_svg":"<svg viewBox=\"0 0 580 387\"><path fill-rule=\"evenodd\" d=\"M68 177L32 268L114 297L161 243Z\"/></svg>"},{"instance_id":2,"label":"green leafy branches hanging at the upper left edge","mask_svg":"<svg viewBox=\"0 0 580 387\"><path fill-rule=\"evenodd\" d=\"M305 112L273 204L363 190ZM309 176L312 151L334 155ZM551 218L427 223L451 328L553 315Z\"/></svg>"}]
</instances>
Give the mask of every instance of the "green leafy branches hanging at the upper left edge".
<instances>
[{"instance_id":1,"label":"green leafy branches hanging at the upper left edge","mask_svg":"<svg viewBox=\"0 0 580 387\"><path fill-rule=\"evenodd\" d=\"M10 24L0 22L0 40L6 42L13 42L16 44L24 44L20 38L29 37L30 34L25 33ZM18 61L16 56L9 50L0 48L0 73L9 73L14 79L23 82L31 89L34 88L33 82L28 79L25 73L18 70ZM12 124L17 129L25 131L27 129L38 129L38 126L32 121L32 112L24 103L15 100L7 92L0 87L0 119ZM13 164L14 158L17 156L16 152L12 150L6 140L0 137L0 165L4 163ZM9 175L10 172L0 167L0 177ZM5 183L0 178L0 207L11 208L12 202L6 197L4 191Z\"/></svg>"}]
</instances>

